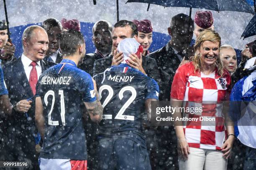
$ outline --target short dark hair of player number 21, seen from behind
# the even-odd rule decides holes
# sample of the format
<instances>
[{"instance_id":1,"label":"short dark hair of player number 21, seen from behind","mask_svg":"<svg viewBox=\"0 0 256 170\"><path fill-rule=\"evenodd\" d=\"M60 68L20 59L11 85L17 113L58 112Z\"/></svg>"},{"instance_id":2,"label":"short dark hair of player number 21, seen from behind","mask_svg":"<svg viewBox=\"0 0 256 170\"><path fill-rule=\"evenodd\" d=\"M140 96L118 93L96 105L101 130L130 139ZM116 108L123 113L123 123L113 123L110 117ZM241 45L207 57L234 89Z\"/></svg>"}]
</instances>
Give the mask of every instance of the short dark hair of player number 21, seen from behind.
<instances>
[{"instance_id":1,"label":"short dark hair of player number 21, seen from behind","mask_svg":"<svg viewBox=\"0 0 256 170\"><path fill-rule=\"evenodd\" d=\"M59 40L59 47L64 56L72 55L79 45L84 44L84 35L77 30L65 31Z\"/></svg>"}]
</instances>

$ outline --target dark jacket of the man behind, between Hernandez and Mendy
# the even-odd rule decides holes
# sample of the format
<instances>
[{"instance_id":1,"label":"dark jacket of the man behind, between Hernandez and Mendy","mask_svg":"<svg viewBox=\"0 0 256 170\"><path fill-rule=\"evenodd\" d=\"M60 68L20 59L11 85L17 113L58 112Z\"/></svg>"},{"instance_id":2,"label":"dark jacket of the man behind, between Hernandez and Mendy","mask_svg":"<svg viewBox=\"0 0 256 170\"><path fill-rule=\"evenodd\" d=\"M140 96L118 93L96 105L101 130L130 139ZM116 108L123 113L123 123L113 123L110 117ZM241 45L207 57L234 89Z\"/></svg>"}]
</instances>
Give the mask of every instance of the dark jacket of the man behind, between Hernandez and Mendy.
<instances>
[{"instance_id":1,"label":"dark jacket of the man behind, between Hernandez and Mendy","mask_svg":"<svg viewBox=\"0 0 256 170\"><path fill-rule=\"evenodd\" d=\"M95 53L86 54L83 58L83 62L78 66L81 70L86 71L93 76L93 65L95 60L102 59L102 56Z\"/></svg>"}]
</instances>

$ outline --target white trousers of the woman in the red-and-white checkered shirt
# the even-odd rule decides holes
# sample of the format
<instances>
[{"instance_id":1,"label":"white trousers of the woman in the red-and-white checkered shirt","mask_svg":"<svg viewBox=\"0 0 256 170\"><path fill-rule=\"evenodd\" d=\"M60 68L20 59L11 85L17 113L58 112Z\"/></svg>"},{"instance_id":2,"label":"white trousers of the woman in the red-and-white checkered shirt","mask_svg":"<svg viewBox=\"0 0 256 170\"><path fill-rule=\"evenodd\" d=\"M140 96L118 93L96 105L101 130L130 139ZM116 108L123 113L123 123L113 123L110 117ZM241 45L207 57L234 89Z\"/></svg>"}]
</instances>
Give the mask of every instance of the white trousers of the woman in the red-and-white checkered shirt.
<instances>
[{"instance_id":1,"label":"white trousers of the woman in the red-and-white checkered shirt","mask_svg":"<svg viewBox=\"0 0 256 170\"><path fill-rule=\"evenodd\" d=\"M179 158L179 170L227 170L228 160L219 150L190 148L187 160Z\"/></svg>"}]
</instances>

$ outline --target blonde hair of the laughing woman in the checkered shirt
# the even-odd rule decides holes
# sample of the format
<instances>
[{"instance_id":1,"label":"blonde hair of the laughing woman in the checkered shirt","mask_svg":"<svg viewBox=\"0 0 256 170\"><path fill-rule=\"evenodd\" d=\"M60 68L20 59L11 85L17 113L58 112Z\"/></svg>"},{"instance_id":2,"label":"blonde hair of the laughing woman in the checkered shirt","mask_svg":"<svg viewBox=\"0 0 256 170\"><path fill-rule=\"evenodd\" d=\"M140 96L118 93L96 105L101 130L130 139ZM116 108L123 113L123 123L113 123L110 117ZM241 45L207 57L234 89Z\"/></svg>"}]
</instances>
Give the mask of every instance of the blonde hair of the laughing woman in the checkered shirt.
<instances>
[{"instance_id":1,"label":"blonde hair of the laughing woman in the checkered shirt","mask_svg":"<svg viewBox=\"0 0 256 170\"><path fill-rule=\"evenodd\" d=\"M202 31L199 36L197 37L197 40L195 42L194 48L195 48L195 57L193 60L193 65L195 67L195 72L197 70L201 71L202 70L202 65L201 65L201 59L200 59L200 53L199 53L199 49L201 47L201 45L203 44L203 42L205 41L210 41L210 42L219 42L219 47L221 44L221 38L220 35L218 34L218 32L214 31L214 30L204 30ZM217 60L215 61L215 66L218 69L218 74L220 76L223 75L224 72L224 68L223 65L221 64L220 61L220 56L218 55Z\"/></svg>"}]
</instances>

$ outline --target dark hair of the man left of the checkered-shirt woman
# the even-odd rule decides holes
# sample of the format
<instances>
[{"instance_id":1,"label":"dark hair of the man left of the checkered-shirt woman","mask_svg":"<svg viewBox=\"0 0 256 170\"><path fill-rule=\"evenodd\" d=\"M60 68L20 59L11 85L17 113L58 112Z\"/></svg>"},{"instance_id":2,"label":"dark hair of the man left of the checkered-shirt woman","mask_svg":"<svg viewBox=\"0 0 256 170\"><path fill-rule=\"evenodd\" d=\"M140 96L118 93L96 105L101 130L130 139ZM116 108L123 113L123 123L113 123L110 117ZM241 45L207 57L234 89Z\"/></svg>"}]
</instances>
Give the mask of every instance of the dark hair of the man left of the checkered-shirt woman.
<instances>
[{"instance_id":1,"label":"dark hair of the man left of the checkered-shirt woman","mask_svg":"<svg viewBox=\"0 0 256 170\"><path fill-rule=\"evenodd\" d=\"M182 27L184 27L184 25L187 25L190 22L190 29L189 30L194 30L194 21L192 20L192 18L190 18L188 15L186 14L177 14L175 16L172 17L172 19L170 20L170 24L169 24L169 28L171 28L171 30L174 30L176 28L181 29Z\"/></svg>"}]
</instances>

